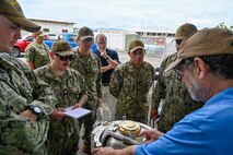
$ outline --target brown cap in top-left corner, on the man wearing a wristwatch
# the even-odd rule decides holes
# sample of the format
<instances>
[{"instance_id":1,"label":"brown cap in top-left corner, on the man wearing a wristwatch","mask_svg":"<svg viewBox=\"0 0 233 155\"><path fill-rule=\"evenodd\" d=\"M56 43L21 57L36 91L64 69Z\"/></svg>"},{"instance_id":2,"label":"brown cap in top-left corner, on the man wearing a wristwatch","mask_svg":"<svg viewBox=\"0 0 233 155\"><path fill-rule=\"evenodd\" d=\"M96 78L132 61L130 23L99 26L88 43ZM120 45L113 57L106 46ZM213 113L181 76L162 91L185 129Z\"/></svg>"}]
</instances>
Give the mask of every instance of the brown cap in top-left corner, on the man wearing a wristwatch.
<instances>
[{"instance_id":1,"label":"brown cap in top-left corner, on the man wearing a wristwatch","mask_svg":"<svg viewBox=\"0 0 233 155\"><path fill-rule=\"evenodd\" d=\"M0 14L22 26L27 32L37 32L40 26L27 20L16 0L0 0Z\"/></svg>"}]
</instances>

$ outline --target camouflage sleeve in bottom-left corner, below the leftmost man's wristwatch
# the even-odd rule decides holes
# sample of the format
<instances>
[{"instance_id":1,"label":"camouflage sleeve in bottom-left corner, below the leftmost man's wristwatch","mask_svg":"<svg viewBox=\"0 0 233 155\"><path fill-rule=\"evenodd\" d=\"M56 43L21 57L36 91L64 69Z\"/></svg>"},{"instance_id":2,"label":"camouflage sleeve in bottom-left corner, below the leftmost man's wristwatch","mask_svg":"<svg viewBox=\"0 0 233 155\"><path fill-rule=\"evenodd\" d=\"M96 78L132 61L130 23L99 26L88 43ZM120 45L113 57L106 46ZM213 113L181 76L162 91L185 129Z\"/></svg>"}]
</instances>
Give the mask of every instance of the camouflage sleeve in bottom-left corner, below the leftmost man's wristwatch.
<instances>
[{"instance_id":1,"label":"camouflage sleeve in bottom-left corner, below the leftmost man's wristwatch","mask_svg":"<svg viewBox=\"0 0 233 155\"><path fill-rule=\"evenodd\" d=\"M0 98L0 154L32 154L45 142L48 127L47 119L25 119Z\"/></svg>"}]
</instances>

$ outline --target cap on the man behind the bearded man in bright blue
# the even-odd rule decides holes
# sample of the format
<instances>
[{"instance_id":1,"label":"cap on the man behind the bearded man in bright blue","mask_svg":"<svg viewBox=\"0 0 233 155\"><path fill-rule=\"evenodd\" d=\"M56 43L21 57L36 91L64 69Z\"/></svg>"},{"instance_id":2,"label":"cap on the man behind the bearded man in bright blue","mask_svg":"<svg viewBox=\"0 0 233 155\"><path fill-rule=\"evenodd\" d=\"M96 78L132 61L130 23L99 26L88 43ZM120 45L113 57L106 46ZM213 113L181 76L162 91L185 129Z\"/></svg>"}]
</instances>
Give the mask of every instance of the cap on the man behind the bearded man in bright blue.
<instances>
[{"instance_id":1,"label":"cap on the man behind the bearded man in bright blue","mask_svg":"<svg viewBox=\"0 0 233 155\"><path fill-rule=\"evenodd\" d=\"M180 25L175 33L175 39L185 39L189 35L197 32L197 27L194 24L185 23Z\"/></svg>"}]
</instances>

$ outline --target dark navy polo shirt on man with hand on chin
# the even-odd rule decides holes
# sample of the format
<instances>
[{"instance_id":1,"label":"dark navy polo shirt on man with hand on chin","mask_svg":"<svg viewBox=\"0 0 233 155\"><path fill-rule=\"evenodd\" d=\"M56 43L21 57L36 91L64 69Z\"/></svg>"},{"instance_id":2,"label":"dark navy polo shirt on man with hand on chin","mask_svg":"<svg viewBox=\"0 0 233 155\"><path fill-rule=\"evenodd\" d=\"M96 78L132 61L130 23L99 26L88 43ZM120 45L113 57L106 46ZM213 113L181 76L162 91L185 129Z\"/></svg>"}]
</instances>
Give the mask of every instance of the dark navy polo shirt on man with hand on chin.
<instances>
[{"instance_id":1,"label":"dark navy polo shirt on man with hand on chin","mask_svg":"<svg viewBox=\"0 0 233 155\"><path fill-rule=\"evenodd\" d=\"M103 57L101 57L100 50L94 50L93 52L101 59L102 67L108 65L107 60L105 60ZM116 60L118 63L120 63L118 53L115 50L106 49L106 52L113 60ZM103 84L109 84L110 75L113 72L114 72L114 69L110 69L110 70L102 73L102 83Z\"/></svg>"}]
</instances>

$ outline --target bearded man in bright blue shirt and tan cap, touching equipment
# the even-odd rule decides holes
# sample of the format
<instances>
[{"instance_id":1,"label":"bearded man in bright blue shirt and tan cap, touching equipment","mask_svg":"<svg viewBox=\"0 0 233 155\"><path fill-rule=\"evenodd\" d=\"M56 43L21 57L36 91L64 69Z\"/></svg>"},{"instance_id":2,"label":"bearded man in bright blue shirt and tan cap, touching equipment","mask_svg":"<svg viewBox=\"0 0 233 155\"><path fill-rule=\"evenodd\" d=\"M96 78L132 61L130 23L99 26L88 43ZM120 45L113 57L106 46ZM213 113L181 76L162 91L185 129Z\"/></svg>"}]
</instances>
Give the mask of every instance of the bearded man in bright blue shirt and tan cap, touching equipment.
<instances>
[{"instance_id":1,"label":"bearded man in bright blue shirt and tan cap, touching equipment","mask_svg":"<svg viewBox=\"0 0 233 155\"><path fill-rule=\"evenodd\" d=\"M124 150L95 148L110 155L232 155L233 153L233 33L205 28L185 39L174 69L193 99L206 104L175 123L166 134L142 131L148 143ZM180 96L182 97L182 96ZM156 141L155 141L156 140ZM151 143L149 143L151 142Z\"/></svg>"}]
</instances>

